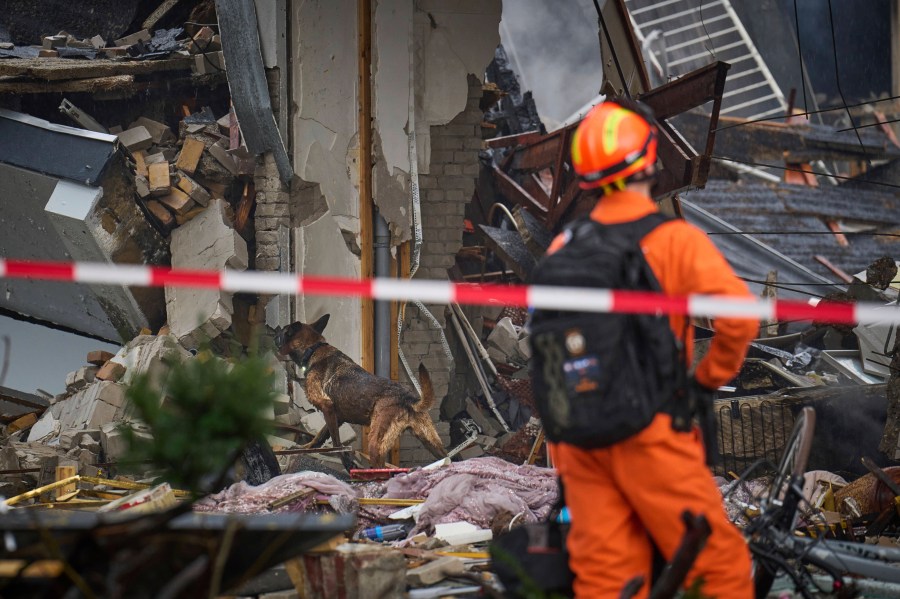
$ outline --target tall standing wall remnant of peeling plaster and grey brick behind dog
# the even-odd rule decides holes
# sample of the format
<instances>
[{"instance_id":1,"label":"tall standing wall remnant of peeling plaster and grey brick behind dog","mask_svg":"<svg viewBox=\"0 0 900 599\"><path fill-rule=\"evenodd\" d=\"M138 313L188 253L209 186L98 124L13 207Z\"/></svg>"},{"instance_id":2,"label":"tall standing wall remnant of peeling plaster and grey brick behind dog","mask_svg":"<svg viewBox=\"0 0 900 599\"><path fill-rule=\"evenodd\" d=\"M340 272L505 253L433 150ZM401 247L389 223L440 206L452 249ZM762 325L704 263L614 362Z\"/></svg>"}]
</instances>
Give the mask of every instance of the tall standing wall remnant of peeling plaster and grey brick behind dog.
<instances>
[{"instance_id":1,"label":"tall standing wall remnant of peeling plaster and grey brick behind dog","mask_svg":"<svg viewBox=\"0 0 900 599\"><path fill-rule=\"evenodd\" d=\"M357 57L357 2L294 5L291 14L295 67L291 121L294 168L301 180L290 193L292 231L269 228L258 245L257 266L288 270L274 244L290 237L290 270L306 275L357 277L361 268ZM420 268L416 276L446 279L462 242L465 204L471 199L481 148L478 108L481 79L499 41L500 2L383 0L374 3L373 35L373 183L374 202L391 232L392 252L412 240L409 131L415 132L416 167L422 210ZM412 87L413 93L410 94ZM351 91L352 90L352 91ZM410 114L410 106L414 112ZM257 221L282 226L278 200L257 195ZM277 220L281 219L281 220ZM262 232L260 224L257 231ZM262 241L262 239L260 239ZM273 255L260 255L269 252ZM262 259L264 262L259 262ZM354 298L288 298L267 314L271 325L313 320L331 313L325 331L330 343L359 362L362 318ZM271 306L272 304L270 304ZM437 324L446 326L442 307L432 307ZM395 326L393 323L392 326ZM442 330L418 309L406 311L401 349L413 369L428 367L440 401L448 394L454 366L442 351ZM408 380L401 373L401 380ZM446 432L446 427L444 431ZM448 437L445 437L445 442ZM430 461L417 441L404 463Z\"/></svg>"}]
</instances>

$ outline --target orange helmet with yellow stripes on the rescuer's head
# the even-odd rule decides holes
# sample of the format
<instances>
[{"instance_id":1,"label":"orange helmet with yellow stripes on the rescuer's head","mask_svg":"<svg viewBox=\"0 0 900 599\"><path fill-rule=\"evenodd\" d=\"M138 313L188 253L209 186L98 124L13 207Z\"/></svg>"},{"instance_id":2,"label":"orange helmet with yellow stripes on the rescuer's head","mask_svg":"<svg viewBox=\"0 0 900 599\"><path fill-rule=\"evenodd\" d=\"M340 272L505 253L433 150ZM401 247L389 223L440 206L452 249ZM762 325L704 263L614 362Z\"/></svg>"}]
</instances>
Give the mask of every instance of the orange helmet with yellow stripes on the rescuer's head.
<instances>
[{"instance_id":1,"label":"orange helmet with yellow stripes on the rescuer's head","mask_svg":"<svg viewBox=\"0 0 900 599\"><path fill-rule=\"evenodd\" d=\"M572 165L582 189L624 187L656 162L656 127L616 102L591 109L572 136Z\"/></svg>"}]
</instances>

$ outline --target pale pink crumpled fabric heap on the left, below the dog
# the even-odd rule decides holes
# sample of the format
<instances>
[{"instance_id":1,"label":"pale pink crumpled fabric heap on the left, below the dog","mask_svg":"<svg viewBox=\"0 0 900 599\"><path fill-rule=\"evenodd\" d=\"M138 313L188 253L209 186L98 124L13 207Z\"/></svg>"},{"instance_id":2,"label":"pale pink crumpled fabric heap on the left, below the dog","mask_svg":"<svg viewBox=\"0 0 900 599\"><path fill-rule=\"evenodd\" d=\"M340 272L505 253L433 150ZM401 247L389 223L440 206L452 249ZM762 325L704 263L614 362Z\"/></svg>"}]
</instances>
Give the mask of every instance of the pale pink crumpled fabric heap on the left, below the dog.
<instances>
[{"instance_id":1,"label":"pale pink crumpled fabric heap on the left, below the dog","mask_svg":"<svg viewBox=\"0 0 900 599\"><path fill-rule=\"evenodd\" d=\"M275 510L269 509L272 501L303 488L315 489L316 494ZM255 487L245 481L237 482L195 503L194 511L228 514L304 512L316 507L317 495L327 495L329 504L338 513L355 512L358 508L357 494L353 487L328 474L305 471L282 474Z\"/></svg>"}]
</instances>

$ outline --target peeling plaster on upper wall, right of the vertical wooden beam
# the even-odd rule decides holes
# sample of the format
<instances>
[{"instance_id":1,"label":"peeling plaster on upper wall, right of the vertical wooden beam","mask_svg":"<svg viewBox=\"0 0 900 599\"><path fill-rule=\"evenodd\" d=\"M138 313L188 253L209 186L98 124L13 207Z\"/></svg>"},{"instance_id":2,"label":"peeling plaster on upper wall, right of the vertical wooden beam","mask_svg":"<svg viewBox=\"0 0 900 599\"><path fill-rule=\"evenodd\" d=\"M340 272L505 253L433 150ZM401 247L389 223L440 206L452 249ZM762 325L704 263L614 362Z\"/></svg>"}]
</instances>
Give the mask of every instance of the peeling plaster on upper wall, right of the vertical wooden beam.
<instances>
[{"instance_id":1,"label":"peeling plaster on upper wall, right of the vertical wooden beam","mask_svg":"<svg viewBox=\"0 0 900 599\"><path fill-rule=\"evenodd\" d=\"M375 10L374 199L392 243L411 238L409 90L415 89L417 166L430 172L431 127L466 107L467 76L483 79L500 41L501 3L380 0ZM411 39L412 36L412 39ZM410 64L415 70L410 72Z\"/></svg>"}]
</instances>

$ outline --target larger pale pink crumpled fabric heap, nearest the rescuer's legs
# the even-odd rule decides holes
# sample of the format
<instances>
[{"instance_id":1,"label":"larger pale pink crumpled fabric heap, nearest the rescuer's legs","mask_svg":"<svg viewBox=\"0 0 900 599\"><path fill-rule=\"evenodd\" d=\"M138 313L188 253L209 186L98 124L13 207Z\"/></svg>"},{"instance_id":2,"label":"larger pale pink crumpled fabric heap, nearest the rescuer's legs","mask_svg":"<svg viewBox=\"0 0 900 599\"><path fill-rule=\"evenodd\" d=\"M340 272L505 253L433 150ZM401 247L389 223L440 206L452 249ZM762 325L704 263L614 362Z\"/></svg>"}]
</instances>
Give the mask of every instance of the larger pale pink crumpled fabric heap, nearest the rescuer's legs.
<instances>
[{"instance_id":1,"label":"larger pale pink crumpled fabric heap, nearest the rescuer's legs","mask_svg":"<svg viewBox=\"0 0 900 599\"><path fill-rule=\"evenodd\" d=\"M387 483L385 497L425 499L410 533L415 535L448 522L490 528L503 511L521 515L522 522L537 522L549 514L558 490L554 470L485 457L395 476Z\"/></svg>"}]
</instances>

